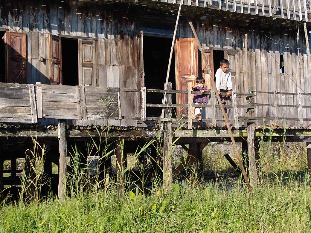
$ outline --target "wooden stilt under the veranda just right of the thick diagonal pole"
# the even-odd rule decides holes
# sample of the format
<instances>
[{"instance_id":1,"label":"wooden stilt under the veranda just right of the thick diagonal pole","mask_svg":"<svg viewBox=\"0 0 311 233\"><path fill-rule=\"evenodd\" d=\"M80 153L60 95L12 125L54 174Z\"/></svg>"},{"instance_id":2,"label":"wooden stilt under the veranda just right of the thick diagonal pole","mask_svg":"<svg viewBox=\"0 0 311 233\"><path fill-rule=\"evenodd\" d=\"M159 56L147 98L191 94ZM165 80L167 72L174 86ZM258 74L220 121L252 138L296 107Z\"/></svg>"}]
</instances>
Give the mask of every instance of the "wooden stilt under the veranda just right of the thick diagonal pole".
<instances>
[{"instance_id":1,"label":"wooden stilt under the veranda just right of the thick diagonal pole","mask_svg":"<svg viewBox=\"0 0 311 233\"><path fill-rule=\"evenodd\" d=\"M255 140L255 124L248 123L247 126L247 144L248 144L248 174L251 185L258 182L258 159L259 143Z\"/></svg>"}]
</instances>

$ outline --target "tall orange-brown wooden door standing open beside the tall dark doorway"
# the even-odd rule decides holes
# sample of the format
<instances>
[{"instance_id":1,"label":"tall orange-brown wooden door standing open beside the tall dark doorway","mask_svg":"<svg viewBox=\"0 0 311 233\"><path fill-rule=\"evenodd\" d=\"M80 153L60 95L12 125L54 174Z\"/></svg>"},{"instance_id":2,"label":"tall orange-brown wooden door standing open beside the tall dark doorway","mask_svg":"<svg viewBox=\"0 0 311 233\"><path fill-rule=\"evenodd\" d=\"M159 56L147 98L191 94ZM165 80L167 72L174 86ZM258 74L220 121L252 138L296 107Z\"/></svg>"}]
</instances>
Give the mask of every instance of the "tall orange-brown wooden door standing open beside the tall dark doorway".
<instances>
[{"instance_id":1,"label":"tall orange-brown wooden door standing open beside the tall dark doorway","mask_svg":"<svg viewBox=\"0 0 311 233\"><path fill-rule=\"evenodd\" d=\"M187 91L198 76L197 42L195 38L180 38L175 43L176 89ZM176 94L177 104L187 104L187 94ZM187 107L178 107L177 116L187 116Z\"/></svg>"}]
</instances>

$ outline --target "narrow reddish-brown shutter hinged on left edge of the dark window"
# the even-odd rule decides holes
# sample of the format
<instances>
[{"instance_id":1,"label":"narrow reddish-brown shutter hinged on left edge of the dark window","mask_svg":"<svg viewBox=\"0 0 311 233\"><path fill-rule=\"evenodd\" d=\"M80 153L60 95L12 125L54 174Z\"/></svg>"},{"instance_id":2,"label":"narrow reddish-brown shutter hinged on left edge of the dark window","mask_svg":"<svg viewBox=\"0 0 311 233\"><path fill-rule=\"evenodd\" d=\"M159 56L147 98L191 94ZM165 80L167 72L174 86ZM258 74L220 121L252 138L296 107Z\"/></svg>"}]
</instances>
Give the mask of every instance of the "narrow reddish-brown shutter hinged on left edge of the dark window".
<instances>
[{"instance_id":1,"label":"narrow reddish-brown shutter hinged on left edge of the dark window","mask_svg":"<svg viewBox=\"0 0 311 233\"><path fill-rule=\"evenodd\" d=\"M50 84L63 82L62 43L59 36L49 35L50 48Z\"/></svg>"}]
</instances>

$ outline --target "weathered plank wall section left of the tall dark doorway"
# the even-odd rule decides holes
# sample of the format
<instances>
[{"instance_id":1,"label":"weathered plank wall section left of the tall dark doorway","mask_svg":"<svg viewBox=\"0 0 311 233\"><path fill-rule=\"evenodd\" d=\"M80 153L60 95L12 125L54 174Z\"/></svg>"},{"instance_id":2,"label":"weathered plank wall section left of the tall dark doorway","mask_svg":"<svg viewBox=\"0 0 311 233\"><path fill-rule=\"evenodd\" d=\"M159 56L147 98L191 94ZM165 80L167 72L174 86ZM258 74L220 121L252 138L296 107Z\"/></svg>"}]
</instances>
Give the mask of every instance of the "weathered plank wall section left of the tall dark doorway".
<instances>
[{"instance_id":1,"label":"weathered plank wall section left of the tall dark doorway","mask_svg":"<svg viewBox=\"0 0 311 233\"><path fill-rule=\"evenodd\" d=\"M27 34L27 83L49 84L49 34L79 36L97 40L98 86L141 88L138 79L136 21L127 12L106 10L105 7L78 4L71 1L23 1L22 4L0 3L0 28ZM40 61L40 58L43 58ZM63 77L64 79L66 77ZM140 94L123 93L122 112L140 116ZM53 119L41 119L42 124L57 124ZM71 121L83 125L134 125L136 120Z\"/></svg>"}]
</instances>

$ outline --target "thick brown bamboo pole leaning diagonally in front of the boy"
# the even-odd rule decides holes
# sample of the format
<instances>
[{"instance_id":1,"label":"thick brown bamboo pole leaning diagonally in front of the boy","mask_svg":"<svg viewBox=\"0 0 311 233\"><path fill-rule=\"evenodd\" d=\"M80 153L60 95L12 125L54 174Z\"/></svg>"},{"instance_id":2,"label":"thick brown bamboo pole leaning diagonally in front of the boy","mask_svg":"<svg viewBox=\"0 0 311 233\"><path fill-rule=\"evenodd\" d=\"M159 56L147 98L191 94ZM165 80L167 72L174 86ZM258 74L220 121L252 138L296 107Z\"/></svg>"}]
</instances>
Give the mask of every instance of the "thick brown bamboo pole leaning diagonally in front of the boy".
<instances>
[{"instance_id":1,"label":"thick brown bamboo pole leaning diagonally in front of the boy","mask_svg":"<svg viewBox=\"0 0 311 233\"><path fill-rule=\"evenodd\" d=\"M194 37L195 37L195 39L197 40L197 46L199 47L199 49L200 49L200 51L201 51L201 53L202 53L202 55L203 55L202 57L203 57L203 59L204 59L205 65L206 65L206 67L207 67L207 69L208 69L208 73L211 74L211 73L212 73L212 72L211 72L211 68L210 68L209 65L208 65L207 59L206 59L206 57L205 57L205 55L204 55L203 48L202 48L202 46L201 46L201 43L200 43L200 41L199 41L199 38L197 37L197 33L196 33L195 30L194 30L194 27L193 27L193 25L192 25L192 22L189 22L189 24L190 24L190 27L191 27L191 29L192 29L192 31L193 31ZM220 95L218 94L218 91L217 91L217 88L216 88L216 84L215 84L214 78L213 78L211 75L210 75L210 78L211 78L212 85L213 85L213 87L214 87L214 89L215 89L216 97L217 97L217 99L218 99L218 103L219 103L219 105L220 105L221 112L222 112L222 114L224 115L225 122L226 122L226 125L227 125L227 128L228 128L229 134L230 134L230 138L231 138L232 145L233 145L233 149L234 149L234 152L235 152L235 154L236 154L236 157L238 158L238 161L239 161L239 164L240 164L240 167L241 167L241 170L242 170L242 173L243 173L245 182L246 182L247 187L248 187L248 191L251 191L251 186L250 186L250 184L249 184L248 177L247 177L247 175L246 175L246 172L245 172L245 169L244 169L244 166L243 166L241 157L240 157L239 150L238 150L238 148L237 148L237 146L236 146L236 143L235 143L235 140L234 140L232 131L231 131L231 129L230 129L229 119L228 119L227 115L225 114L225 108L224 108L224 106L223 106L222 103L221 103Z\"/></svg>"}]
</instances>

